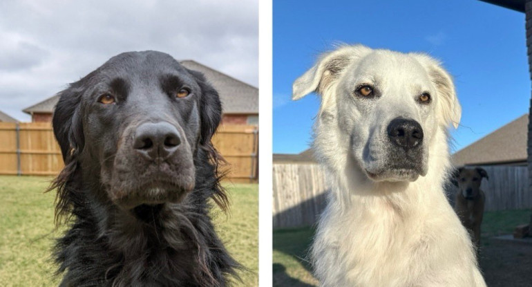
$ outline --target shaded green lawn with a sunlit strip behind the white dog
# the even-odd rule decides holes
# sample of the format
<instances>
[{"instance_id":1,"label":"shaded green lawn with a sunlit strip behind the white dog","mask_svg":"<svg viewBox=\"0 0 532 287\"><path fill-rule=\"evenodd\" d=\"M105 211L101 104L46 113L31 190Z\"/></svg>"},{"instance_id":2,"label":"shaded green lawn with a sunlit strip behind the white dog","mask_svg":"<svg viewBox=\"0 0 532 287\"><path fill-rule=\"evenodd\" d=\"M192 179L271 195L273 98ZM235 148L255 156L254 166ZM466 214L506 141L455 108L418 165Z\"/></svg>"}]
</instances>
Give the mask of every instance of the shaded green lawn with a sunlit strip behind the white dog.
<instances>
[{"instance_id":1,"label":"shaded green lawn with a sunlit strip behind the white dog","mask_svg":"<svg viewBox=\"0 0 532 287\"><path fill-rule=\"evenodd\" d=\"M512 233L515 226L530 222L531 210L485 212L482 221L482 245L489 237ZM307 252L314 230L297 228L274 231L274 286L317 286L307 262Z\"/></svg>"}]
</instances>

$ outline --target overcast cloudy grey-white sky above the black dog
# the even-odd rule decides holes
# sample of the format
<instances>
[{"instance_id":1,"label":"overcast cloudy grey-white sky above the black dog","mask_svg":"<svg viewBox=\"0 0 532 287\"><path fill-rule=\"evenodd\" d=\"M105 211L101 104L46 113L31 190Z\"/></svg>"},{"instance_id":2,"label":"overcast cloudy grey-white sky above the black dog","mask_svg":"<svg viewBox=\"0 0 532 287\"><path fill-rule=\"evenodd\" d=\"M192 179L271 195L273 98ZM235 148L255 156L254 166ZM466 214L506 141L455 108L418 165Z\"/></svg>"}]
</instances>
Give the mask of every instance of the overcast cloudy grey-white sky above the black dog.
<instances>
[{"instance_id":1,"label":"overcast cloudy grey-white sky above the black dog","mask_svg":"<svg viewBox=\"0 0 532 287\"><path fill-rule=\"evenodd\" d=\"M0 111L21 110L109 57L160 50L258 86L258 1L0 2Z\"/></svg>"}]
</instances>

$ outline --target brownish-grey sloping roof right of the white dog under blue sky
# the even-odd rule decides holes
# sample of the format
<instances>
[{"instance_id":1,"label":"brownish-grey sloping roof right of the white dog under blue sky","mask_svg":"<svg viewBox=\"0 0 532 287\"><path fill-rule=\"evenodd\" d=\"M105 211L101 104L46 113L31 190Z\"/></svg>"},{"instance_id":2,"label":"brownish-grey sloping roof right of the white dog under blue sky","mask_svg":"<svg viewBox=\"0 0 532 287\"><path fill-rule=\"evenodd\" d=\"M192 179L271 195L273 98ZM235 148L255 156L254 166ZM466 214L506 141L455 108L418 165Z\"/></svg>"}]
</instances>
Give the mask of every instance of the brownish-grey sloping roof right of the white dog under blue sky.
<instances>
[{"instance_id":1,"label":"brownish-grey sloping roof right of the white dog under blue sky","mask_svg":"<svg viewBox=\"0 0 532 287\"><path fill-rule=\"evenodd\" d=\"M462 165L493 165L525 161L529 115L509 122L484 138L453 154L453 163Z\"/></svg>"}]
</instances>

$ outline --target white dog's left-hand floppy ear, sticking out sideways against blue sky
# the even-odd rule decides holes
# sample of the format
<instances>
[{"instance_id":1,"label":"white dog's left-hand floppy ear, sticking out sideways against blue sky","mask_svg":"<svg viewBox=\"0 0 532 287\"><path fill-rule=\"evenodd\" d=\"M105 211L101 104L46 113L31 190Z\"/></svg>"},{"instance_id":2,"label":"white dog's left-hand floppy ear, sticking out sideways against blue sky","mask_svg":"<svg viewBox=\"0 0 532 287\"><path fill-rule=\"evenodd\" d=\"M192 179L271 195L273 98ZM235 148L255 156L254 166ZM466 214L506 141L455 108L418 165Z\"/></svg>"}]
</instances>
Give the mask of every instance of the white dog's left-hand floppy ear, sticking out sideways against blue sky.
<instances>
[{"instance_id":1,"label":"white dog's left-hand floppy ear, sticking out sideways against blue sky","mask_svg":"<svg viewBox=\"0 0 532 287\"><path fill-rule=\"evenodd\" d=\"M348 66L352 59L370 52L370 48L355 45L341 46L340 48L324 53L316 64L298 77L292 84L292 100L299 100L314 91L321 93L339 73Z\"/></svg>"}]
</instances>

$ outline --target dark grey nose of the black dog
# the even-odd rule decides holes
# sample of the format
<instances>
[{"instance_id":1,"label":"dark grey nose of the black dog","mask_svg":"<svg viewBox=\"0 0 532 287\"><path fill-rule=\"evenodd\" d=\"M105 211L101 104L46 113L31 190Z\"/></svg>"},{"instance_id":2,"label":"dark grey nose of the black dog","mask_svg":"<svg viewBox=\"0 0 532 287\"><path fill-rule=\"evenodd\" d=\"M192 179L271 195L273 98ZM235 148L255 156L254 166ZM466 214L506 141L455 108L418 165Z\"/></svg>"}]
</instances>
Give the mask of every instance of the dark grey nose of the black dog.
<instances>
[{"instance_id":1,"label":"dark grey nose of the black dog","mask_svg":"<svg viewBox=\"0 0 532 287\"><path fill-rule=\"evenodd\" d=\"M169 122L145 122L135 131L133 149L151 159L171 156L181 143L178 129Z\"/></svg>"}]
</instances>

